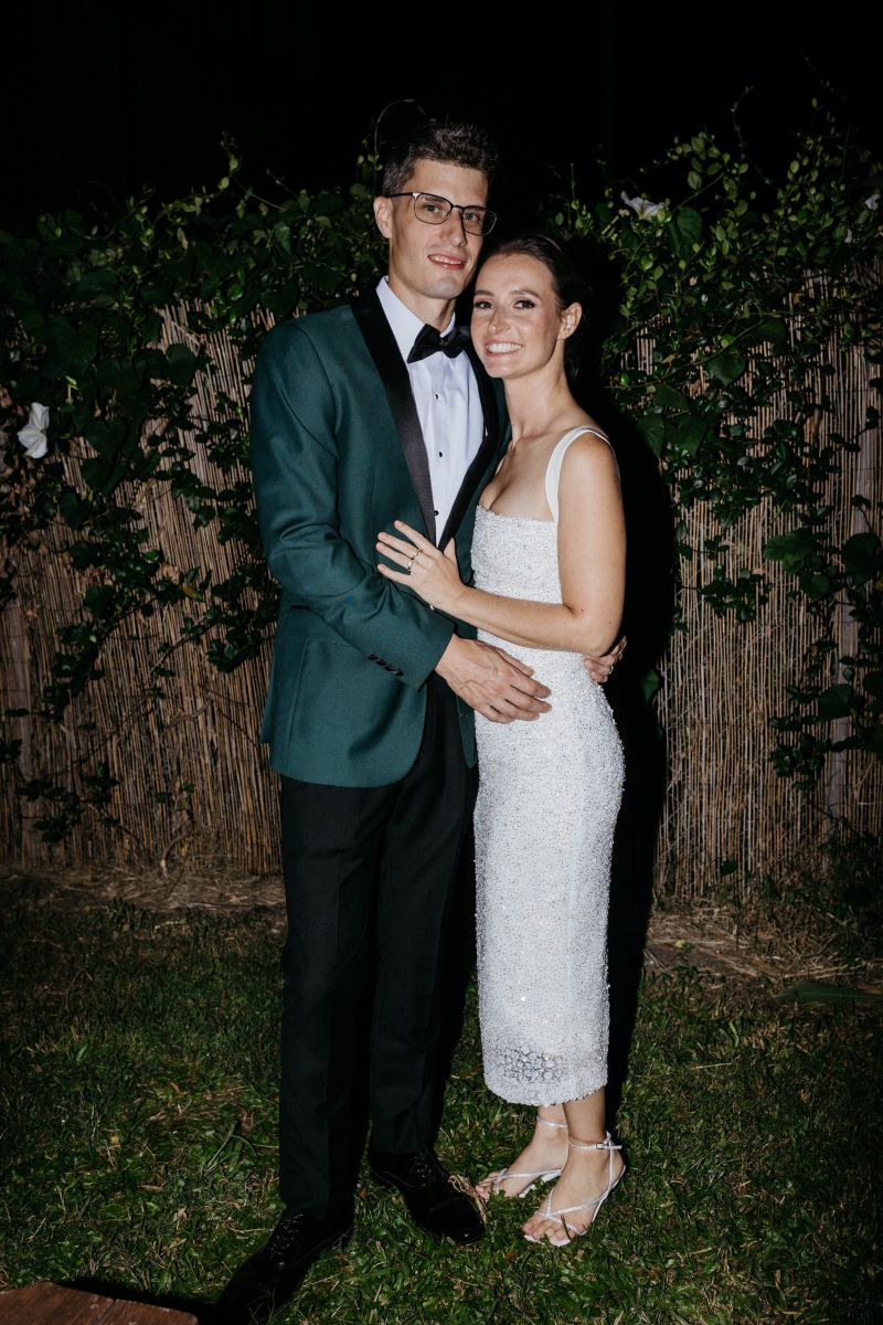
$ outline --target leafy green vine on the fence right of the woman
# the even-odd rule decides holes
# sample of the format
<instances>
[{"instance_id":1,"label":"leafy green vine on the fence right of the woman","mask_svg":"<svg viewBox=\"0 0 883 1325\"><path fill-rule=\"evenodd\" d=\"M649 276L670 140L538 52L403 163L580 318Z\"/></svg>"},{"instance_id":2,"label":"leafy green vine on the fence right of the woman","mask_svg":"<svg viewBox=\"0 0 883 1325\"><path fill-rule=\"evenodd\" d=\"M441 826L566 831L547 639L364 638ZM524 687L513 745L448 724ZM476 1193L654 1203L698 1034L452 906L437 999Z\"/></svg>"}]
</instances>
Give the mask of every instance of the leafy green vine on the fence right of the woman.
<instances>
[{"instance_id":1,"label":"leafy green vine on the fence right of the woman","mask_svg":"<svg viewBox=\"0 0 883 1325\"><path fill-rule=\"evenodd\" d=\"M837 370L825 354L831 343L860 347L879 394L883 171L830 117L819 119L780 186L702 132L675 142L642 182L674 196L629 199L609 188L592 205L564 200L555 216L564 237L592 244L616 272L620 305L602 360L675 507L706 502L727 530L769 500L781 519L764 556L793 576L819 633L774 718L773 762L806 790L833 750L883 755L880 509L855 497L864 527L837 545L821 497L845 453L880 423L870 407L854 435L837 429L826 391ZM638 341L651 347L649 363L635 355ZM770 405L774 417L761 427ZM678 551L690 553L683 521L678 533ZM729 550L724 538L704 541L714 571L695 590L719 616L749 621L769 580L751 566L725 574ZM858 649L838 659L842 681L826 685L839 602ZM849 730L835 739L830 723L839 718Z\"/></svg>"}]
</instances>

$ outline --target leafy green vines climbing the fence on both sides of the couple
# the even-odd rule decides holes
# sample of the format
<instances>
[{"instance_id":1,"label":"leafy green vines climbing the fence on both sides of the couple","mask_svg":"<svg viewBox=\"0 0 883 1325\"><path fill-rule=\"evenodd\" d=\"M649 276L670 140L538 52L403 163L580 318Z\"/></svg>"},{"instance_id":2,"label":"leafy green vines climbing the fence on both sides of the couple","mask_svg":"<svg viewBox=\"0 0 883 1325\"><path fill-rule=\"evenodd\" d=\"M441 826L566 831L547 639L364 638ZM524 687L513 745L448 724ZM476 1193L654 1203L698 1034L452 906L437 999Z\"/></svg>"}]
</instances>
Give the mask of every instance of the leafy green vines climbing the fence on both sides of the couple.
<instances>
[{"instance_id":1,"label":"leafy green vines climbing the fence on both sides of the couple","mask_svg":"<svg viewBox=\"0 0 883 1325\"><path fill-rule=\"evenodd\" d=\"M364 288L383 261L369 224L379 162L365 150L351 187L270 201L241 186L236 152L228 155L225 176L191 197L132 200L113 224L65 212L40 217L24 237L0 233L0 607L16 594L20 551L49 529L86 586L78 619L58 632L34 714L48 722L62 721L99 682L105 645L124 623L169 604L187 608L180 640L156 651L150 684L159 696L171 649L204 648L229 672L256 656L274 619L244 477L242 403L221 394L213 416L197 417L195 376L210 379L214 366L183 342L158 348L162 311L185 310L195 333L222 330L248 363L266 315L324 307ZM780 184L759 179L741 150L727 151L708 134L675 142L642 187L651 192L657 183L666 188L657 203L613 188L592 204L553 200L547 223L590 245L614 273L618 309L602 371L676 507L707 502L724 529L768 498L781 515L765 556L793 576L793 592L818 617L819 644L776 719L774 759L812 786L829 750L883 754L880 511L857 498L864 527L837 546L818 496L842 454L860 445L860 436L834 431L831 403L818 390L833 371L821 358L833 335L862 347L880 387L882 171L825 121L801 138ZM812 297L808 273L818 277ZM635 355L638 338L651 343L649 366ZM788 409L759 432L759 412L782 391ZM34 401L50 419L38 461L16 443ZM863 427L878 425L868 411ZM191 466L195 444L217 482ZM196 527L234 545L228 579L214 583L197 566L169 574L132 498L146 484L167 484ZM712 560L725 551L723 539L704 546ZM765 600L767 580L751 567L728 576L718 564L699 592L711 611L747 621ZM842 680L825 686L838 602L847 603L859 643L839 660ZM831 719L847 719L837 741ZM49 806L37 822L49 840L64 837L87 806L109 814L106 758L25 776L19 755L17 741L0 745L19 794Z\"/></svg>"}]
</instances>

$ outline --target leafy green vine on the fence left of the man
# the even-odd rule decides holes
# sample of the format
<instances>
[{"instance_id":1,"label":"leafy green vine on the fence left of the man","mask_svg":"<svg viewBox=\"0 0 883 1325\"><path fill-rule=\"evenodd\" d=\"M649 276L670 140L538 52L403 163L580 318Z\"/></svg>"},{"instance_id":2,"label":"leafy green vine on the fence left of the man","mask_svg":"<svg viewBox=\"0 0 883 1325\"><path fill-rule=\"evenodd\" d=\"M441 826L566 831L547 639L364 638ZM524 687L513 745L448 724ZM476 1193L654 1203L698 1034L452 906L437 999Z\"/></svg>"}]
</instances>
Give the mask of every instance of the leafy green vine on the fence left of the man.
<instances>
[{"instance_id":1,"label":"leafy green vine on the fence left of the man","mask_svg":"<svg viewBox=\"0 0 883 1325\"><path fill-rule=\"evenodd\" d=\"M34 717L61 722L99 681L107 640L173 603L189 611L180 640L158 647L154 696L171 674L173 648L200 644L221 672L258 652L277 591L244 477L242 403L221 392L213 417L197 417L193 379L210 376L213 364L184 343L156 348L162 310L181 309L187 329L203 335L222 330L249 362L265 330L261 314L303 313L360 288L380 254L368 225L376 160L365 154L359 167L348 189L267 201L238 186L230 152L214 188L158 208L132 200L110 228L66 212L41 217L24 238L0 233L0 607L16 592L19 550L38 546L50 527L62 531L64 553L87 586L79 620L57 633ZM38 461L15 444L33 401L50 417ZM195 444L205 448L216 485L191 466ZM228 579L212 583L196 566L167 572L132 500L146 484L167 484L195 527L212 526L220 542L236 545ZM114 780L105 759L81 759L62 778L24 776L19 755L19 741L0 745L19 795L50 807L36 820L45 839L62 839L86 807L107 816Z\"/></svg>"}]
</instances>

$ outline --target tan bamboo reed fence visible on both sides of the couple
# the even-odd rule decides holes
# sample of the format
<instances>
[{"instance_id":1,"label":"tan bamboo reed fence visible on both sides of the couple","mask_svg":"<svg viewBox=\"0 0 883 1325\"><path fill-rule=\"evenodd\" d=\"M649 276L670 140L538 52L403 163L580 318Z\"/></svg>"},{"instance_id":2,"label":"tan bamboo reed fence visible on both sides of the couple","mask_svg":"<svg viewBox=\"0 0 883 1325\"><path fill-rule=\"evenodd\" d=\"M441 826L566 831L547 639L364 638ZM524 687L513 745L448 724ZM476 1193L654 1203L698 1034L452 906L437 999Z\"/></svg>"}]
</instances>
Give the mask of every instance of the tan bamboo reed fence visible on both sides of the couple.
<instances>
[{"instance_id":1,"label":"tan bamboo reed fence visible on both sides of the couple","mask_svg":"<svg viewBox=\"0 0 883 1325\"><path fill-rule=\"evenodd\" d=\"M163 346L169 341L207 348L214 364L210 376L201 374L196 382L200 417L212 416L217 391L245 400L244 366L222 334L200 341L184 310L177 310L165 317ZM650 346L638 352L649 354ZM864 359L860 351L831 342L829 362L835 371L825 391L834 398L838 431L855 435L871 398ZM773 415L774 404L768 417L759 419L759 431ZM818 427L818 419L808 419L808 429ZM217 484L205 448L196 439L189 445L200 477ZM842 473L831 476L822 496L839 539L863 527L851 506L859 493L883 500L879 429L862 433L860 452L843 456ZM210 527L195 530L167 485L147 482L128 500L140 511L151 545L164 550L164 572L175 576L197 566L214 582L232 572L236 549L218 543ZM800 682L818 629L801 600L789 595L788 576L763 560L761 547L781 533L781 523L764 502L725 531L707 507L695 505L686 526L694 549L680 567L686 629L658 662L657 713L669 774L655 881L661 894L688 900L714 893L721 863L736 861L739 872L727 886L732 892L735 880L747 900L765 874L781 877L818 849L835 820L879 831L883 763L860 751L834 754L817 791L809 794L777 776L769 759L769 719L785 709L785 686ZM718 537L729 545L728 571L764 567L772 579L769 602L753 623L715 616L695 592L712 571L703 546ZM16 553L17 594L0 619L5 712L36 706L50 678L56 629L78 619L85 586L62 551L64 542L61 529L50 530L41 546ZM53 845L32 825L44 807L21 803L5 778L0 833L8 860L38 867L214 857L257 873L278 869L275 779L258 745L270 645L229 674L218 673L199 647L181 645L168 659L172 674L156 698L148 677L156 645L180 639L187 613L187 606L169 607L119 631L106 647L102 678L87 686L60 726L29 717L9 719L9 735L23 742L26 776L50 770L64 780L65 770L94 750L107 759L118 784L106 807L109 819L87 811L70 837ZM850 652L851 631L843 610L837 619L838 655ZM831 674L830 681L837 680Z\"/></svg>"}]
</instances>

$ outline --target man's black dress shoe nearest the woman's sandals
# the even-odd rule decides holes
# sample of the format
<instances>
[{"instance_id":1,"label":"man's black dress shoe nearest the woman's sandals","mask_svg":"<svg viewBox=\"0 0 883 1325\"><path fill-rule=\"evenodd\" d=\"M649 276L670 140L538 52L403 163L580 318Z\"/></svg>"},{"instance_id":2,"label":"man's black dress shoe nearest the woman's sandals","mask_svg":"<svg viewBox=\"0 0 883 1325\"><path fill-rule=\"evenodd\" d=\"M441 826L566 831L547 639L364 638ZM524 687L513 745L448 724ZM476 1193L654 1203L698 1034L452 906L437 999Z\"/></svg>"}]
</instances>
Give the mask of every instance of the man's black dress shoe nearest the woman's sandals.
<instances>
[{"instance_id":1,"label":"man's black dress shoe nearest the woman's sandals","mask_svg":"<svg viewBox=\"0 0 883 1325\"><path fill-rule=\"evenodd\" d=\"M478 1208L454 1187L434 1150L395 1155L369 1149L368 1167L384 1187L402 1194L410 1218L433 1238L451 1238L465 1246L485 1236Z\"/></svg>"}]
</instances>

